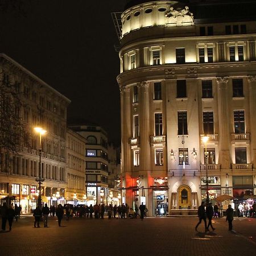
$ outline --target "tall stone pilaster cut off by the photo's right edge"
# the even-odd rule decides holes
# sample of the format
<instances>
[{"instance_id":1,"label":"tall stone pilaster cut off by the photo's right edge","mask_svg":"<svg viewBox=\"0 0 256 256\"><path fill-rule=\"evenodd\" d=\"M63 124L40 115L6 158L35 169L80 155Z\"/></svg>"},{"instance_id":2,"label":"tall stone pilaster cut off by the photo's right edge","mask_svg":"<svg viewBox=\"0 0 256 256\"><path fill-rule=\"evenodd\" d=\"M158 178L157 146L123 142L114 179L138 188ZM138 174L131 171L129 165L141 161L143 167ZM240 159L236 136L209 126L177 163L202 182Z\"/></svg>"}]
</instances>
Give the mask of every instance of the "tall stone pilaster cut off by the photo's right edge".
<instances>
[{"instance_id":1,"label":"tall stone pilaster cut off by the photo's right edge","mask_svg":"<svg viewBox=\"0 0 256 256\"><path fill-rule=\"evenodd\" d=\"M250 141L251 141L251 163L256 164L256 76L248 76L249 82L249 105L250 105Z\"/></svg>"}]
</instances>

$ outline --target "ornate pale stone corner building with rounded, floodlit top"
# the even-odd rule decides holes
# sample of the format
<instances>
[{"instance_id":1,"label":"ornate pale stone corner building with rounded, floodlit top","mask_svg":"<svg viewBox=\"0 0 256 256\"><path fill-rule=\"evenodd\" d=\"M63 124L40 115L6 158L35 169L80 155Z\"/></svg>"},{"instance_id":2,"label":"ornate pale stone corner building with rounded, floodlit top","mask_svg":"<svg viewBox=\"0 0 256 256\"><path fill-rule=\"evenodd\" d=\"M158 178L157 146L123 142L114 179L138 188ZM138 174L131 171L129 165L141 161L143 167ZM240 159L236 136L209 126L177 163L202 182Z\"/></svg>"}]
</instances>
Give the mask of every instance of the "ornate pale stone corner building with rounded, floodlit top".
<instances>
[{"instance_id":1,"label":"ornate pale stone corner building with rounded, floodlit top","mask_svg":"<svg viewBox=\"0 0 256 256\"><path fill-rule=\"evenodd\" d=\"M197 209L207 185L213 202L255 199L255 7L137 0L115 13L129 205L146 202L150 216Z\"/></svg>"}]
</instances>

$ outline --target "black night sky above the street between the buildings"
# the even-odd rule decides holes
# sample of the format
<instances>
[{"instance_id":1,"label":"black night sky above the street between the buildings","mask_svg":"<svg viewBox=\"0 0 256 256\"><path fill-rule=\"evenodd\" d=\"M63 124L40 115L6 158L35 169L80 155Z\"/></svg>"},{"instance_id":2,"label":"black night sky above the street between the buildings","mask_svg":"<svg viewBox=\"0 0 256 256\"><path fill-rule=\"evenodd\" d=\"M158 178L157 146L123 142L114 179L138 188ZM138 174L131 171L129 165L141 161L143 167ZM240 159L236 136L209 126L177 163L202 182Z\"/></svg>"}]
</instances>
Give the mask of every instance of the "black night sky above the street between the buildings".
<instances>
[{"instance_id":1,"label":"black night sky above the street between the buildings","mask_svg":"<svg viewBox=\"0 0 256 256\"><path fill-rule=\"evenodd\" d=\"M118 44L110 13L125 0L24 0L25 15L1 10L0 52L72 103L68 117L98 123L120 142Z\"/></svg>"}]
</instances>

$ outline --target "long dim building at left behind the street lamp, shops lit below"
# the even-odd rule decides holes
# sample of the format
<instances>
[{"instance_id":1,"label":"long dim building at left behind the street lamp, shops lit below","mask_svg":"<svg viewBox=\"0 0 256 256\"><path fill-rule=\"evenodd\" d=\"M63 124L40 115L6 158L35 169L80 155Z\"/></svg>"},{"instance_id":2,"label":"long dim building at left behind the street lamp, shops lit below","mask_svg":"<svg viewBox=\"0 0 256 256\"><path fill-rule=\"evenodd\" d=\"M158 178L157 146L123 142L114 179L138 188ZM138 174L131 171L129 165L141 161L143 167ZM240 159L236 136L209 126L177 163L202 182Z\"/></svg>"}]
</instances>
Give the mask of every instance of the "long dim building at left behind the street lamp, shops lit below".
<instances>
[{"instance_id":1,"label":"long dim building at left behind the street lamp, shops lit below","mask_svg":"<svg viewBox=\"0 0 256 256\"><path fill-rule=\"evenodd\" d=\"M42 137L43 203L64 202L67 187L66 126L68 98L40 80L16 61L0 54L1 83L15 85L22 106L17 110L31 133L21 152L1 152L0 198L15 196L23 213L35 209L39 177L39 135L34 127L47 131ZM57 195L53 196L53 195ZM54 198L53 198L54 197Z\"/></svg>"}]
</instances>

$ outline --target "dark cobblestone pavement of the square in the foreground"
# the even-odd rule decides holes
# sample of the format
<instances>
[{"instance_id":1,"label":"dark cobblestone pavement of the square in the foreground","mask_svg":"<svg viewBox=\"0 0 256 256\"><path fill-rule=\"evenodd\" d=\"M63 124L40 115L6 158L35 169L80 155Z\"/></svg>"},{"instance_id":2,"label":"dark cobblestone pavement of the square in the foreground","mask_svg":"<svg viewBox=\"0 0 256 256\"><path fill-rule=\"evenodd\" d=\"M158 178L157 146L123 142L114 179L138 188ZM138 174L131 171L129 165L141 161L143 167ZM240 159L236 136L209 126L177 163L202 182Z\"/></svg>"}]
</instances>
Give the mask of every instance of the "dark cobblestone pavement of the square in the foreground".
<instances>
[{"instance_id":1,"label":"dark cobblestone pavement of the square in the foreground","mask_svg":"<svg viewBox=\"0 0 256 256\"><path fill-rule=\"evenodd\" d=\"M235 218L234 232L225 218L214 218L214 232L204 233L203 224L191 218L145 218L90 220L71 218L49 228L34 228L32 216L14 222L11 232L0 231L1 256L58 255L255 255L256 218ZM7 225L8 227L8 225Z\"/></svg>"}]
</instances>

